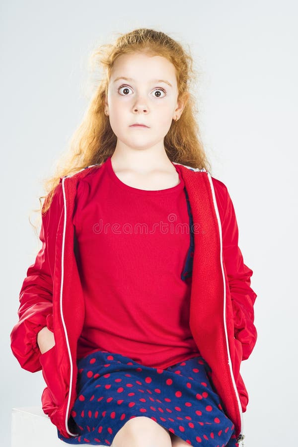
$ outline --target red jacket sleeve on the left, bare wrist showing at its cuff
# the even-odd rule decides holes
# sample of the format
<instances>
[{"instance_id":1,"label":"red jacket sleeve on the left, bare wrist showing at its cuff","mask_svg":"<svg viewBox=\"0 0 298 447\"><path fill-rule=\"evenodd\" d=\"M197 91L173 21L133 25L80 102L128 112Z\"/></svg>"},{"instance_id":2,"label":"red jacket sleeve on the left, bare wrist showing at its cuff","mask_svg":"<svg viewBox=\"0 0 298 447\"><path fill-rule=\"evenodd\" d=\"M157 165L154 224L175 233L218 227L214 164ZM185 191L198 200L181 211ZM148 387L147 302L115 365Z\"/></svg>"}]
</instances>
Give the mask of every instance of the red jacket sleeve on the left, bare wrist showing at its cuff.
<instances>
[{"instance_id":1,"label":"red jacket sleeve on the left, bare wrist showing at its cuff","mask_svg":"<svg viewBox=\"0 0 298 447\"><path fill-rule=\"evenodd\" d=\"M56 186L50 208L42 216L39 233L42 247L23 280L19 293L19 320L10 333L13 355L21 367L31 373L41 370L37 333L43 327L49 327L53 315L55 239L62 203L60 183Z\"/></svg>"}]
</instances>

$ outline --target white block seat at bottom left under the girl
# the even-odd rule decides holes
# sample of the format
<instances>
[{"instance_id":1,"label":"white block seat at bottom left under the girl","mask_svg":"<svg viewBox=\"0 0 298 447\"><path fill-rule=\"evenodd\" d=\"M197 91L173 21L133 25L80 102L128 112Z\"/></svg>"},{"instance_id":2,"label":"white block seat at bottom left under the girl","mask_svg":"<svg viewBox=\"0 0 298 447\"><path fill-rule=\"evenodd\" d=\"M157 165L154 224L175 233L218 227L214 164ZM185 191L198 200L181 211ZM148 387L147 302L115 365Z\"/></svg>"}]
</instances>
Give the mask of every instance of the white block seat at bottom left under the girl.
<instances>
[{"instance_id":1,"label":"white block seat at bottom left under the girl","mask_svg":"<svg viewBox=\"0 0 298 447\"><path fill-rule=\"evenodd\" d=\"M40 407L12 409L11 447L70 446L58 438L57 428ZM86 446L86 444L76 444ZM101 446L98 446L101 447Z\"/></svg>"}]
</instances>

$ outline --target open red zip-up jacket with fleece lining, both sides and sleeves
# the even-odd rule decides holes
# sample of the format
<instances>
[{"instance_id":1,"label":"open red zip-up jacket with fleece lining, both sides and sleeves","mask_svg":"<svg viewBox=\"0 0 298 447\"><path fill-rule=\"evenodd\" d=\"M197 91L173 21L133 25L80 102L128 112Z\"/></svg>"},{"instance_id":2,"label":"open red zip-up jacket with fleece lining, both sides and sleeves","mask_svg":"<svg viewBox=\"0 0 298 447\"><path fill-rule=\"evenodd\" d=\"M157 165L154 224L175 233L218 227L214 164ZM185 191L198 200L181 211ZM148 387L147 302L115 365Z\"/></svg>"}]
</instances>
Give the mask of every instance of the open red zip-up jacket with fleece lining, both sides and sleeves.
<instances>
[{"instance_id":1,"label":"open red zip-up jacket with fleece lining, both sides and sleeves","mask_svg":"<svg viewBox=\"0 0 298 447\"><path fill-rule=\"evenodd\" d=\"M176 164L176 163L175 163ZM40 371L47 384L43 410L65 437L76 398L76 347L84 322L84 300L74 255L74 198L80 178L100 169L91 165L60 179L53 202L42 217L42 248L29 266L20 291L19 321L11 332L11 349L21 367ZM194 229L190 329L212 369L211 379L224 411L243 436L242 412L248 394L239 373L256 343L250 270L238 247L234 208L224 183L205 169L181 165ZM38 331L54 332L55 346L44 354Z\"/></svg>"}]
</instances>

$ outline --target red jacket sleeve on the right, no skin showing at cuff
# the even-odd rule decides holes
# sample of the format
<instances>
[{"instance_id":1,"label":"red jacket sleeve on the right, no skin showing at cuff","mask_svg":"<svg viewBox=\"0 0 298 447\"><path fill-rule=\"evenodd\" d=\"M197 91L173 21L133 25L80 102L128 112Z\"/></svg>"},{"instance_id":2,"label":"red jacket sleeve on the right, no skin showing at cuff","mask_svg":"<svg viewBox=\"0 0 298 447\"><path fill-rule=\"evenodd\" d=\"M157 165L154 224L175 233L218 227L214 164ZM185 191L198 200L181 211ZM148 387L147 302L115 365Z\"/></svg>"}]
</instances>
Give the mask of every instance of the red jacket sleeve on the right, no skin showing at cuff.
<instances>
[{"instance_id":1,"label":"red jacket sleeve on the right, no skin showing at cuff","mask_svg":"<svg viewBox=\"0 0 298 447\"><path fill-rule=\"evenodd\" d=\"M253 271L244 264L238 247L238 225L227 188L219 180L216 184L221 190L218 196L222 203L222 209L219 207L219 211L222 223L223 258L233 308L234 337L241 342L242 360L246 360L257 340L253 308L257 295L250 287Z\"/></svg>"}]
</instances>

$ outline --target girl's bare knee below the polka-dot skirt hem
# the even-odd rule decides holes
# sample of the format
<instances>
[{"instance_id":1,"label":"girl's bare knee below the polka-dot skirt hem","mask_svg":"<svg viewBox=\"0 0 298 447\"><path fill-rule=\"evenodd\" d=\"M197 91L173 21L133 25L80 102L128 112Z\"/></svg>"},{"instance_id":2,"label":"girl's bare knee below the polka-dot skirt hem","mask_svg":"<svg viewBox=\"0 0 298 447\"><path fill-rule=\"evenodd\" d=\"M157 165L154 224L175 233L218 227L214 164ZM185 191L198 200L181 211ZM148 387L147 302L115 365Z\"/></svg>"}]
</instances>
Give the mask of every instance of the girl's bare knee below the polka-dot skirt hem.
<instances>
[{"instance_id":1,"label":"girl's bare knee below the polka-dot skirt hem","mask_svg":"<svg viewBox=\"0 0 298 447\"><path fill-rule=\"evenodd\" d=\"M169 431L153 419L136 416L116 433L111 447L171 447Z\"/></svg>"}]
</instances>

